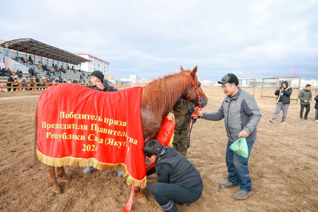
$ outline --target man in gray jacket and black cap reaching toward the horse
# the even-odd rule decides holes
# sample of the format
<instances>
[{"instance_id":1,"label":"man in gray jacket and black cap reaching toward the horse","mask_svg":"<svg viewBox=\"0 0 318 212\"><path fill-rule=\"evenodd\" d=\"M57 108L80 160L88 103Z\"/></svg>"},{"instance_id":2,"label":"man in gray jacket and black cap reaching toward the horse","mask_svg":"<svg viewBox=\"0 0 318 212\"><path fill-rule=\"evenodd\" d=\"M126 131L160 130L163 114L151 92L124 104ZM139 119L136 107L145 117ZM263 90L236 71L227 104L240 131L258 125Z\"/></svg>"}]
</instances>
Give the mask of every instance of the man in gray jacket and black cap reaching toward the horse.
<instances>
[{"instance_id":1,"label":"man in gray jacket and black cap reaching toward the horse","mask_svg":"<svg viewBox=\"0 0 318 212\"><path fill-rule=\"evenodd\" d=\"M202 110L194 116L201 116L203 119L218 121L224 119L227 137L229 138L226 148L226 166L228 181L220 182L221 188L240 188L234 194L237 199L245 199L252 195L252 181L248 171L248 159L254 141L257 139L256 126L261 119L259 107L254 97L238 87L239 79L234 74L225 75L221 81L226 97L222 102L220 109L214 113L203 113ZM244 158L234 153L230 146L239 137L246 137L248 146L248 157Z\"/></svg>"}]
</instances>

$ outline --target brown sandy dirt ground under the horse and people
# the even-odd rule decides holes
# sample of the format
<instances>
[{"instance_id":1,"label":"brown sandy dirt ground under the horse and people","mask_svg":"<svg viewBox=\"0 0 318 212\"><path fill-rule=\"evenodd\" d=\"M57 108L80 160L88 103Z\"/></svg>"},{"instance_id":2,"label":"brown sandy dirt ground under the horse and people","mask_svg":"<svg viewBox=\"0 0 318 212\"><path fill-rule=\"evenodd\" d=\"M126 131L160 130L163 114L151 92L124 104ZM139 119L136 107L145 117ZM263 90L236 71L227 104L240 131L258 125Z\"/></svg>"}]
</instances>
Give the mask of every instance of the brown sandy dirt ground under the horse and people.
<instances>
[{"instance_id":1,"label":"brown sandy dirt ground under the horse and people","mask_svg":"<svg viewBox=\"0 0 318 212\"><path fill-rule=\"evenodd\" d=\"M225 97L222 91L205 87L204 92L209 98L204 111L217 111ZM270 91L270 95L273 92ZM95 169L91 174L83 174L81 167L66 166L66 174L72 181L66 183L58 179L63 192L60 195L51 191L47 165L42 164L37 173L32 171L33 121L39 93L22 91L0 94L0 211L121 211L128 201L130 186L114 170ZM310 120L301 121L298 118L300 105L292 101L286 124L272 124L269 120L274 113L275 100L260 99L260 91L256 94L262 119L249 160L253 195L237 200L233 197L237 188L218 187L218 183L227 177L224 121L198 120L192 129L187 158L201 173L204 190L197 202L187 207L178 206L181 212L318 212L315 101L311 103ZM155 182L156 176L148 177L148 181ZM141 204L134 199L132 211L162 211L147 189L143 193L148 203Z\"/></svg>"}]
</instances>

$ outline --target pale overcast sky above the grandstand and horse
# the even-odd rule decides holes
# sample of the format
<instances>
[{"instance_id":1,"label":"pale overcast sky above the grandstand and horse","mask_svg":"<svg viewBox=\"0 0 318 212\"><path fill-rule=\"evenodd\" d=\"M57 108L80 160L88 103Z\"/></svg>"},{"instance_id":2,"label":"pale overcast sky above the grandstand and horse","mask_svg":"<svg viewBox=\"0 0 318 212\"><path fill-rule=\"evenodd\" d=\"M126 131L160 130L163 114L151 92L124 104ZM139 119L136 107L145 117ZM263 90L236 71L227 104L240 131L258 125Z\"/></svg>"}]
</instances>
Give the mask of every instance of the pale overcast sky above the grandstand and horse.
<instances>
[{"instance_id":1,"label":"pale overcast sky above the grandstand and horse","mask_svg":"<svg viewBox=\"0 0 318 212\"><path fill-rule=\"evenodd\" d=\"M318 80L318 2L1 1L0 38L32 38L109 62L115 79L198 66L201 79ZM282 69L282 71L281 71ZM260 73L252 73L260 72ZM287 76L287 75L285 75Z\"/></svg>"}]
</instances>

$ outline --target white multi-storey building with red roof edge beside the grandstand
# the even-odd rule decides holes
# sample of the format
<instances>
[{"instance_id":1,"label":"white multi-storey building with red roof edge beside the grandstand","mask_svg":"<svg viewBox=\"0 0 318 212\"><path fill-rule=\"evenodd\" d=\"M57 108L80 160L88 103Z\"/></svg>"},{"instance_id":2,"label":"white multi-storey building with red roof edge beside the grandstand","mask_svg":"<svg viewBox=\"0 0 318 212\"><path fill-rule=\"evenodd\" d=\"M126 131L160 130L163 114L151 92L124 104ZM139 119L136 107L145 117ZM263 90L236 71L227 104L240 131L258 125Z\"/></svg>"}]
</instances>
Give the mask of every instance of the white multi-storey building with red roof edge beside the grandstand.
<instances>
[{"instance_id":1,"label":"white multi-storey building with red roof edge beside the grandstand","mask_svg":"<svg viewBox=\"0 0 318 212\"><path fill-rule=\"evenodd\" d=\"M94 57L90 54L78 53L75 55L78 55L82 58L86 58L86 59L89 59L90 61L92 61L91 63L81 64L81 67L80 67L81 70L84 70L86 72L93 72L95 70L99 70L99 71L103 72L105 77L109 73L109 71L108 71L109 63L106 62L105 60Z\"/></svg>"}]
</instances>

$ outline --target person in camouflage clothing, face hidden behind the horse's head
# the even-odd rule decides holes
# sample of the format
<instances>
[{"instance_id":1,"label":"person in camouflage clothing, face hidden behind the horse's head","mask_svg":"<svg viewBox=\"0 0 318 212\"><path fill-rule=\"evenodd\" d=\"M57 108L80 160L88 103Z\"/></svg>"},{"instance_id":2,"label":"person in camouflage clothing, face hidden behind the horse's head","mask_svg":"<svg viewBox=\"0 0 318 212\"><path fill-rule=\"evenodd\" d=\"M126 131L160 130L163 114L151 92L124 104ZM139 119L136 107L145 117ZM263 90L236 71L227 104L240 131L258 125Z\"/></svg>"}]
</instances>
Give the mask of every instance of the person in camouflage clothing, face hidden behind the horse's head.
<instances>
[{"instance_id":1,"label":"person in camouflage clothing, face hidden behind the horse's head","mask_svg":"<svg viewBox=\"0 0 318 212\"><path fill-rule=\"evenodd\" d=\"M179 99L177 103L173 106L170 112L167 114L167 118L170 121L176 121L175 132L173 135L173 149L177 150L183 156L186 156L188 151L188 132L189 132L189 120L191 116L189 109L196 107L196 104L190 101ZM186 123L187 122L187 123ZM182 132L182 127L185 124Z\"/></svg>"}]
</instances>

